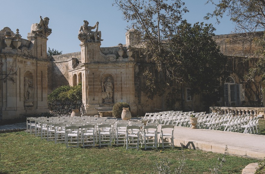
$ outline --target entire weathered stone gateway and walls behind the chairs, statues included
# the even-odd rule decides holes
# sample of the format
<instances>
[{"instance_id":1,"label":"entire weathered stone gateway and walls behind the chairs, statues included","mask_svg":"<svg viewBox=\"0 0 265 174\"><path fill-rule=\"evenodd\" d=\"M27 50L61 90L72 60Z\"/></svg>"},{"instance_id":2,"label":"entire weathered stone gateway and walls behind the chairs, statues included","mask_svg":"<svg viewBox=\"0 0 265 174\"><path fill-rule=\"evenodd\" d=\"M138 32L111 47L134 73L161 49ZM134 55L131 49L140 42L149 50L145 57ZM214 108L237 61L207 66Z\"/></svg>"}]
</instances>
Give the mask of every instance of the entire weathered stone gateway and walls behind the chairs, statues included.
<instances>
[{"instance_id":1,"label":"entire weathered stone gateway and walls behind the chairs, statues included","mask_svg":"<svg viewBox=\"0 0 265 174\"><path fill-rule=\"evenodd\" d=\"M96 29L95 31L92 31ZM95 26L80 27L78 39L80 52L47 56L47 37L51 34L48 18L31 26L27 39L19 31L15 34L5 27L0 31L0 58L6 62L3 74L9 67L15 68L15 82L1 81L0 111L2 119L12 119L23 114L48 112L47 96L62 85L77 85L82 82L82 98L86 115L95 115L95 108L112 110L117 102L127 102L133 116L156 112L164 108L206 111L204 94L195 95L192 102L189 86L182 89L178 102L167 106L167 95L149 99L140 90L145 79L139 75L141 48L134 45L130 36L135 29L126 33L126 44L101 48L101 32ZM261 34L260 34L261 35ZM226 70L230 76L220 82L224 89L220 106L255 106L261 104L263 84L244 82L244 74L255 64L256 59L244 61L256 49L253 43L247 47L242 42L232 42L231 35L215 36L221 52L228 56ZM133 48L131 47L133 46ZM257 77L259 80L260 77ZM264 101L264 99L263 99Z\"/></svg>"}]
</instances>

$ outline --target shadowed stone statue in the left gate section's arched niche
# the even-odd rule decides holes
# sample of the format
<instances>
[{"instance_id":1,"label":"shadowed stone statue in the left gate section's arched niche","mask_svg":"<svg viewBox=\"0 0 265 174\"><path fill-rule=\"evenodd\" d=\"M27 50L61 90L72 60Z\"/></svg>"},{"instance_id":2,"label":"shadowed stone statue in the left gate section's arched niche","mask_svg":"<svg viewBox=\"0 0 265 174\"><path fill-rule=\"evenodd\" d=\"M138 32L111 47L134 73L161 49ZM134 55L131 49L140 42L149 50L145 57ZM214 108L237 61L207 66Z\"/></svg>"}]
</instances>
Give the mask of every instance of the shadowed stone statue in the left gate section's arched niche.
<instances>
[{"instance_id":1,"label":"shadowed stone statue in the left gate section's arched niche","mask_svg":"<svg viewBox=\"0 0 265 174\"><path fill-rule=\"evenodd\" d=\"M33 101L33 75L29 71L24 75L24 101Z\"/></svg>"}]
</instances>

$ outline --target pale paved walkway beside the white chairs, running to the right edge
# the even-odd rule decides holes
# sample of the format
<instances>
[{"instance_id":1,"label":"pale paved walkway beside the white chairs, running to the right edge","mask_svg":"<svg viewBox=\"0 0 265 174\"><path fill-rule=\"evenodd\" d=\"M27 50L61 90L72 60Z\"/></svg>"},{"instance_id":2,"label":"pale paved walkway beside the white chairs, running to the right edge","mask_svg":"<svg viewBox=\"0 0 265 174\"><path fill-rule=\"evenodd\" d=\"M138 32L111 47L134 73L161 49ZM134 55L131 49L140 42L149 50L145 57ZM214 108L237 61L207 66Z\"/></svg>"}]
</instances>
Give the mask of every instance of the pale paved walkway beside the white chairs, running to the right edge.
<instances>
[{"instance_id":1,"label":"pale paved walkway beside the white chairs, running to the right edge","mask_svg":"<svg viewBox=\"0 0 265 174\"><path fill-rule=\"evenodd\" d=\"M0 126L0 133L26 130L26 123ZM160 130L160 126L158 127ZM167 131L164 131L167 132ZM257 159L265 157L265 135L224 132L208 129L191 129L175 126L174 145L224 153L227 145L229 154Z\"/></svg>"}]
</instances>

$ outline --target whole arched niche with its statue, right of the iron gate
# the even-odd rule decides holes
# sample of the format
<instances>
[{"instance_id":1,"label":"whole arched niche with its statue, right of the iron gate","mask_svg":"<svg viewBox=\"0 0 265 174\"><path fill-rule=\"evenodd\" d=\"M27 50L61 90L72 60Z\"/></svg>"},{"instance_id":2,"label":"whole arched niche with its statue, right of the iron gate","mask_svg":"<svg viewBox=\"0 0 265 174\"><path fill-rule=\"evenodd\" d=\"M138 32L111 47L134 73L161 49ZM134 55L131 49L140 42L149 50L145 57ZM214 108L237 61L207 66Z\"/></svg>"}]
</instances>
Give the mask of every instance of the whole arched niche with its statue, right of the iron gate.
<instances>
[{"instance_id":1,"label":"whole arched niche with its statue, right of the iron gate","mask_svg":"<svg viewBox=\"0 0 265 174\"><path fill-rule=\"evenodd\" d=\"M113 103L113 76L111 74L104 74L101 80L101 97L104 99L104 103Z\"/></svg>"}]
</instances>

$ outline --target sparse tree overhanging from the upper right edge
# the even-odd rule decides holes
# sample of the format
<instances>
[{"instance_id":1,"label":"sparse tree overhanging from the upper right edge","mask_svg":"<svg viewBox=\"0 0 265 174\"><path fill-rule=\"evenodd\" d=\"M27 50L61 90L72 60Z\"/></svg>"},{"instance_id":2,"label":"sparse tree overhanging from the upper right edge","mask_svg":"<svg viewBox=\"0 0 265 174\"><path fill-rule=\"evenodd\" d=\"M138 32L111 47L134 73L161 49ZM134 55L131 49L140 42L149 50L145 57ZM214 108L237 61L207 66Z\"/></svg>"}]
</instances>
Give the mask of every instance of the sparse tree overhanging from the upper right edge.
<instances>
[{"instance_id":1,"label":"sparse tree overhanging from the upper right edge","mask_svg":"<svg viewBox=\"0 0 265 174\"><path fill-rule=\"evenodd\" d=\"M222 18L228 12L227 15L230 16L230 20L236 23L235 32L245 32L243 37L240 35L243 38L242 41L252 42L254 40L256 46L259 47L255 54L258 57L256 64L249 69L249 73L245 75L245 80L256 82L255 77L261 76L261 82L265 83L265 35L262 38L255 36L255 31L265 28L265 0L220 0L218 3L209 0L207 3L210 2L216 7L212 13L207 14L206 19L216 17L217 22L220 23L218 18ZM263 92L265 92L264 89Z\"/></svg>"}]
</instances>

